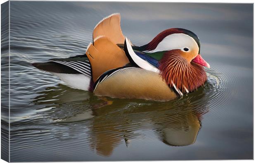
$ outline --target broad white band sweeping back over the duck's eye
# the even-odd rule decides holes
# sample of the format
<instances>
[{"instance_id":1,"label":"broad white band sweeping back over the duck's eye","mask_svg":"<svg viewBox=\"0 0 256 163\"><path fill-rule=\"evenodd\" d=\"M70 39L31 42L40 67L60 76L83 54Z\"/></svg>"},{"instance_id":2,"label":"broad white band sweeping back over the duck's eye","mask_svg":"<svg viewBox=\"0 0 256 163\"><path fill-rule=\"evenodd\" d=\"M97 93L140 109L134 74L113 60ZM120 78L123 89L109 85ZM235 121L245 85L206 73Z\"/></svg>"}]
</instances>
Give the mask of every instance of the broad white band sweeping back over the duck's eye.
<instances>
[{"instance_id":1,"label":"broad white band sweeping back over the duck's eye","mask_svg":"<svg viewBox=\"0 0 256 163\"><path fill-rule=\"evenodd\" d=\"M152 51L146 51L147 53L155 53L159 51L171 51L174 49L188 48L189 50L195 49L199 51L197 42L187 34L175 33L166 36Z\"/></svg>"}]
</instances>

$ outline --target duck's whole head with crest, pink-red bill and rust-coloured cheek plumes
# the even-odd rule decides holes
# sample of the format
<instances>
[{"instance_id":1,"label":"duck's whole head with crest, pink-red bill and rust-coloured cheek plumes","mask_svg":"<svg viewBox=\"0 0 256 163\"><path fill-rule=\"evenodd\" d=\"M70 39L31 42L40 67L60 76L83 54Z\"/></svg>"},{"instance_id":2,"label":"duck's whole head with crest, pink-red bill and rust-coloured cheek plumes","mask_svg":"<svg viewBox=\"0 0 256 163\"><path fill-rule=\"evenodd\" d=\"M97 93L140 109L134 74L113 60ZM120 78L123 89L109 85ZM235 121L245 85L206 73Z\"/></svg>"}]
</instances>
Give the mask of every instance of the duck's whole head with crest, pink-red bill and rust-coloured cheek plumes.
<instances>
[{"instance_id":1,"label":"duck's whole head with crest, pink-red bill and rust-coloured cheek plumes","mask_svg":"<svg viewBox=\"0 0 256 163\"><path fill-rule=\"evenodd\" d=\"M170 86L175 84L183 92L191 92L207 80L203 66L210 65L201 57L199 38L190 30L164 30L140 48L159 60L158 69Z\"/></svg>"}]
</instances>

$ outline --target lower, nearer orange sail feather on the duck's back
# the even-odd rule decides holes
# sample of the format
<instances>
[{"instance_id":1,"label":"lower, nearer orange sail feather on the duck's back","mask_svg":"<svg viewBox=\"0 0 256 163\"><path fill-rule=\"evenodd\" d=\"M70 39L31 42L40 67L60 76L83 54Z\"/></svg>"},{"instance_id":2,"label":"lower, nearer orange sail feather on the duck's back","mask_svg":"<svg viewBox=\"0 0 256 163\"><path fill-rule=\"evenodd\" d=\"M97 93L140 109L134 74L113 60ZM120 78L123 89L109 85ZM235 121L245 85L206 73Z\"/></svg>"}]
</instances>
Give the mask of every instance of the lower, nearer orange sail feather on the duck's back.
<instances>
[{"instance_id":1,"label":"lower, nearer orange sail feather on the duck's back","mask_svg":"<svg viewBox=\"0 0 256 163\"><path fill-rule=\"evenodd\" d=\"M102 73L129 63L124 51L112 39L105 36L98 37L94 40L94 44L89 44L86 55L91 64L94 82Z\"/></svg>"}]
</instances>

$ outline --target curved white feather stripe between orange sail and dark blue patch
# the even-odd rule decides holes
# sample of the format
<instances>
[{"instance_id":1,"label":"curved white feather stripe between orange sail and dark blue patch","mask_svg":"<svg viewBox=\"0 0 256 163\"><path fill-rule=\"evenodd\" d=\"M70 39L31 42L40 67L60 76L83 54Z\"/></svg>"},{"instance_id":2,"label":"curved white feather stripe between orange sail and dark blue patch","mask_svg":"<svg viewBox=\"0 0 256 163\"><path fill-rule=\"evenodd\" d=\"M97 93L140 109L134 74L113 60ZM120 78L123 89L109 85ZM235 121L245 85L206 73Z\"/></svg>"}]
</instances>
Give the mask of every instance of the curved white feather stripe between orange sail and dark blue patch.
<instances>
[{"instance_id":1,"label":"curved white feather stripe between orange sail and dark blue patch","mask_svg":"<svg viewBox=\"0 0 256 163\"><path fill-rule=\"evenodd\" d=\"M140 58L139 56L137 56L134 51L133 48L130 44L130 40L126 37L126 46L127 46L127 50L128 53L130 55L130 57L132 57L133 61L142 69L146 69L149 71L154 71L156 73L159 72L159 69L157 69L156 67L152 66L152 64L149 64L149 62L143 60L142 58Z\"/></svg>"}]
</instances>

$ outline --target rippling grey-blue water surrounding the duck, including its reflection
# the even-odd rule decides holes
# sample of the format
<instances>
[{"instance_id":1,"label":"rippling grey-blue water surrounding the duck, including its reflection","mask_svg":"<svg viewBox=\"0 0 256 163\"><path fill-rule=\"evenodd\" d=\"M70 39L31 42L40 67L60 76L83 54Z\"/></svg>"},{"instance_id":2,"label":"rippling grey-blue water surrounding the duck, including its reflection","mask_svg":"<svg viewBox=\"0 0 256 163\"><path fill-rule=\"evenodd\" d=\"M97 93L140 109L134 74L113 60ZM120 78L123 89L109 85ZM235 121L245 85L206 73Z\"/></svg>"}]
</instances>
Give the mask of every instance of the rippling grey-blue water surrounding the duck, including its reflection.
<instances>
[{"instance_id":1,"label":"rippling grey-blue water surrounding the duck, including its reflection","mask_svg":"<svg viewBox=\"0 0 256 163\"><path fill-rule=\"evenodd\" d=\"M206 85L169 102L98 98L31 66L84 54L116 12L135 45L168 28L195 32ZM11 1L10 21L10 161L253 158L252 4Z\"/></svg>"}]
</instances>

